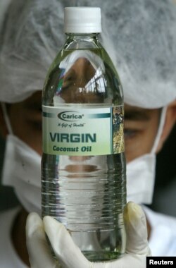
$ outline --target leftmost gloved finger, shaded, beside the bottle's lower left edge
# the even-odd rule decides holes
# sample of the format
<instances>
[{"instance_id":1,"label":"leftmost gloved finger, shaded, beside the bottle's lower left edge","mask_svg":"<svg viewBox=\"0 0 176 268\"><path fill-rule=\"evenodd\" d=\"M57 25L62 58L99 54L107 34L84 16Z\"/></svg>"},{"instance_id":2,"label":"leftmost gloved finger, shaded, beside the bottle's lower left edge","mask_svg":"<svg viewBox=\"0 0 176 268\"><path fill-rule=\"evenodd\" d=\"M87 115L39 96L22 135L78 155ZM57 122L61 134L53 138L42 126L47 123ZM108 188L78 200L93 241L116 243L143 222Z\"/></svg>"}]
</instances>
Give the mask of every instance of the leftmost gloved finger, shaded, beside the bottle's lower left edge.
<instances>
[{"instance_id":1,"label":"leftmost gloved finger, shaded, beside the bottle's lower left edge","mask_svg":"<svg viewBox=\"0 0 176 268\"><path fill-rule=\"evenodd\" d=\"M32 212L27 217L26 240L31 268L57 267L46 242L42 219L37 213Z\"/></svg>"}]
</instances>

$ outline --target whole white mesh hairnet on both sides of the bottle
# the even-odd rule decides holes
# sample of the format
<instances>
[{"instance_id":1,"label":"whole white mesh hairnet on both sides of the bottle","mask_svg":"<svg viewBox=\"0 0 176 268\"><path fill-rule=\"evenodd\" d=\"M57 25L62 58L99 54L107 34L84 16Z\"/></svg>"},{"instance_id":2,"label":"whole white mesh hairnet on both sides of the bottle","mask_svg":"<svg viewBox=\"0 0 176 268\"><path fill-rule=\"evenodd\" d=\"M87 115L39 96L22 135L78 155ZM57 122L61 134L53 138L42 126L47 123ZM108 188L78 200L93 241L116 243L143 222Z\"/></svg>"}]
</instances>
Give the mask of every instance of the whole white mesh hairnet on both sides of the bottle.
<instances>
[{"instance_id":1,"label":"whole white mesh hairnet on both sides of the bottle","mask_svg":"<svg viewBox=\"0 0 176 268\"><path fill-rule=\"evenodd\" d=\"M13 0L1 31L0 101L19 102L42 90L65 39L63 7L73 4L101 7L106 32L102 39L113 54L125 102L155 108L176 98L172 0Z\"/></svg>"}]
</instances>

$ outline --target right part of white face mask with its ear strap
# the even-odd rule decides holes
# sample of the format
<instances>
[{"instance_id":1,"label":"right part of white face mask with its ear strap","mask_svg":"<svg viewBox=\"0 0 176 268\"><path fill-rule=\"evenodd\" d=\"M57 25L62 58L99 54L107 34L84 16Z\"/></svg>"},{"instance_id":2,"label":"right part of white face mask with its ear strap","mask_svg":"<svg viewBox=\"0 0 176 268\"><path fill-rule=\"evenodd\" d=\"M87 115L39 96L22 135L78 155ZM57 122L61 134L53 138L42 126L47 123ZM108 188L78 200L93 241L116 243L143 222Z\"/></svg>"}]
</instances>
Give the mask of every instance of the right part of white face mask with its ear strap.
<instances>
[{"instance_id":1,"label":"right part of white face mask with its ear strap","mask_svg":"<svg viewBox=\"0 0 176 268\"><path fill-rule=\"evenodd\" d=\"M144 154L127 164L127 202L151 204L155 184L156 149L163 133L166 107L161 112L158 133L149 154Z\"/></svg>"}]
</instances>

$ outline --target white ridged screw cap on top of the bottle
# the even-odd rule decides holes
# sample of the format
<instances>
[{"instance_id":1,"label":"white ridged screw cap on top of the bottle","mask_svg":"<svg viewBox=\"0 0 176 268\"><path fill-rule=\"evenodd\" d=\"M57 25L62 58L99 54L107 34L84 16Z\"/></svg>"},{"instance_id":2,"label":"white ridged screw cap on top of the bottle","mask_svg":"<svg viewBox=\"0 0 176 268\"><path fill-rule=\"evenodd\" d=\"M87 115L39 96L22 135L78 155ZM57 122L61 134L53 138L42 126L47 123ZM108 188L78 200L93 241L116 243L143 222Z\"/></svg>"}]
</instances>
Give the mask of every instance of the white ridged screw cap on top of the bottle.
<instances>
[{"instance_id":1,"label":"white ridged screw cap on top of the bottle","mask_svg":"<svg viewBox=\"0 0 176 268\"><path fill-rule=\"evenodd\" d=\"M64 10L64 32L101 32L101 9L96 7L67 7Z\"/></svg>"}]
</instances>

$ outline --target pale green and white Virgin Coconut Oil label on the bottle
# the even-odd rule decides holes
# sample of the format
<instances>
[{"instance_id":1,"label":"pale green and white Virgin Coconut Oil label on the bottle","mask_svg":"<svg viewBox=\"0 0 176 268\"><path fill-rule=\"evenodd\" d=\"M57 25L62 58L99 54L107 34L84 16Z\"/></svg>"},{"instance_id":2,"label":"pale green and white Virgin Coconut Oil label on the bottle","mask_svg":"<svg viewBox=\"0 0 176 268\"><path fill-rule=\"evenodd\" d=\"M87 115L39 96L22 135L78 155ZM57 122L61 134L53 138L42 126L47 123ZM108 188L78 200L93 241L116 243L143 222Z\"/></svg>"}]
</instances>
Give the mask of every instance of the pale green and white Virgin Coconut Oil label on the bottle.
<instances>
[{"instance_id":1,"label":"pale green and white Virgin Coconut Oil label on the bottle","mask_svg":"<svg viewBox=\"0 0 176 268\"><path fill-rule=\"evenodd\" d=\"M124 152L123 106L43 106L43 152L74 156Z\"/></svg>"}]
</instances>

